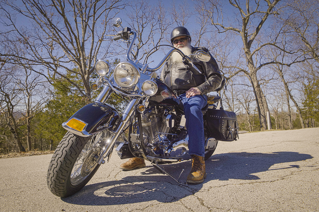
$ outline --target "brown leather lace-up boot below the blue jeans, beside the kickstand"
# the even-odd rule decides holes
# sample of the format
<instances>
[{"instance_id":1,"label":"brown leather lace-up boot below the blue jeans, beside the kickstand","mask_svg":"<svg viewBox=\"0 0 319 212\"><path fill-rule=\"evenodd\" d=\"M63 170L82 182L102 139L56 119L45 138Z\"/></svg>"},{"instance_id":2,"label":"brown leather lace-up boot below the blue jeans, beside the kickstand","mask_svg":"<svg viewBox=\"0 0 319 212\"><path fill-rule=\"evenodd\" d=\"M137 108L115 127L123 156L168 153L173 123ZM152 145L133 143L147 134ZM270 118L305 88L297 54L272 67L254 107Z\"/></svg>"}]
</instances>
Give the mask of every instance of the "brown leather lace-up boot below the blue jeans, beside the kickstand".
<instances>
[{"instance_id":1,"label":"brown leather lace-up boot below the blue jeans, beside the kickstand","mask_svg":"<svg viewBox=\"0 0 319 212\"><path fill-rule=\"evenodd\" d=\"M192 169L187 176L187 183L198 184L204 182L206 178L205 161L204 157L191 155L192 156Z\"/></svg>"}]
</instances>

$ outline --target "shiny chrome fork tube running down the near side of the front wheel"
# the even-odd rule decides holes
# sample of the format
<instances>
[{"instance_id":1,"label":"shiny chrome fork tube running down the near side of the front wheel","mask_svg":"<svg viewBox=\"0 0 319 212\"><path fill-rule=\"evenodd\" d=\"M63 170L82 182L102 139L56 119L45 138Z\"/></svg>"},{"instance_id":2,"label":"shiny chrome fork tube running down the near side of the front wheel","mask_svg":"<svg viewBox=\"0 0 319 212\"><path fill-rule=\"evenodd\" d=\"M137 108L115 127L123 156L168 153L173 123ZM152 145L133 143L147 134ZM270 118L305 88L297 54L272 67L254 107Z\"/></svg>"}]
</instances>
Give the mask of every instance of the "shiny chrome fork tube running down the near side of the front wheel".
<instances>
[{"instance_id":1,"label":"shiny chrome fork tube running down the near side of the front wheel","mask_svg":"<svg viewBox=\"0 0 319 212\"><path fill-rule=\"evenodd\" d=\"M109 156L109 154L112 152L116 139L121 134L125 124L128 121L130 121L130 117L134 114L136 105L138 104L139 101L140 101L140 98L132 99L130 103L128 104L128 106L126 107L125 111L123 112L123 115L120 118L120 122L117 124L112 137L108 140L107 142L108 144L106 145L106 148L103 150L103 153L101 154L101 157L98 162L99 164L101 164L104 158Z\"/></svg>"}]
</instances>

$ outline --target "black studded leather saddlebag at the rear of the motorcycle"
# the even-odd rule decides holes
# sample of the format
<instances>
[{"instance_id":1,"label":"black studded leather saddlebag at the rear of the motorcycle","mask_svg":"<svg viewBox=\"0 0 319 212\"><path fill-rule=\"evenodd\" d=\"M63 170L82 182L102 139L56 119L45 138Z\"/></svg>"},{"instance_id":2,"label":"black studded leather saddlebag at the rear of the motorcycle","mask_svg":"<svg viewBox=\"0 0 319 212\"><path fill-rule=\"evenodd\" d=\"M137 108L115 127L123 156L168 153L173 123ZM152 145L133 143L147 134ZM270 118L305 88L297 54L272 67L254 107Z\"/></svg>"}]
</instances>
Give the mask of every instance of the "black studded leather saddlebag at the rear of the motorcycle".
<instances>
[{"instance_id":1,"label":"black studded leather saddlebag at the rear of the motorcycle","mask_svg":"<svg viewBox=\"0 0 319 212\"><path fill-rule=\"evenodd\" d=\"M226 110L208 109L205 116L211 137L219 141L237 140L239 127L236 113Z\"/></svg>"}]
</instances>

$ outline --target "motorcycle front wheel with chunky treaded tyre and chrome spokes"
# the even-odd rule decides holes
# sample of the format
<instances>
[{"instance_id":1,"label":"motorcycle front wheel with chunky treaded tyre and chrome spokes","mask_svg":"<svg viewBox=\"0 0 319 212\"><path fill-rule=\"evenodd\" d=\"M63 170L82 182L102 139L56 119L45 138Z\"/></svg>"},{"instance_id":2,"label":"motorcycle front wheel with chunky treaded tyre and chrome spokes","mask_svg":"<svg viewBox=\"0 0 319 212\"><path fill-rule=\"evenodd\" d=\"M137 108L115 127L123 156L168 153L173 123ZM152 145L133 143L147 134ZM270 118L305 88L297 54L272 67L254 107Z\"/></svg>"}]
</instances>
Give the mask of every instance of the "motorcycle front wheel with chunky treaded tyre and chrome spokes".
<instances>
[{"instance_id":1,"label":"motorcycle front wheel with chunky treaded tyre and chrome spokes","mask_svg":"<svg viewBox=\"0 0 319 212\"><path fill-rule=\"evenodd\" d=\"M48 168L47 184L50 191L56 196L66 197L83 188L100 167L97 159L108 136L108 131L87 138L67 132Z\"/></svg>"}]
</instances>

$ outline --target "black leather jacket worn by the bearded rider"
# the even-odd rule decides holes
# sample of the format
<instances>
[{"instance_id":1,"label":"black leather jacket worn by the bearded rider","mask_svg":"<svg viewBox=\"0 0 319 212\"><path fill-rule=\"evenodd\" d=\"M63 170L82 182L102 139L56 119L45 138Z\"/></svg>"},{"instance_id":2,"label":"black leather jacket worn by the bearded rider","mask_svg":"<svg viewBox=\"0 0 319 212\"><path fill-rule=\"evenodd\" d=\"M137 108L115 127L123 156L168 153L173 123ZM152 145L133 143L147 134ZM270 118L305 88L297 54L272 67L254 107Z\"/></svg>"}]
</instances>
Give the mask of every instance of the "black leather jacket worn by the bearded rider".
<instances>
[{"instance_id":1,"label":"black leather jacket worn by the bearded rider","mask_svg":"<svg viewBox=\"0 0 319 212\"><path fill-rule=\"evenodd\" d=\"M194 53L197 50L204 50L209 53L205 47L192 47L191 52ZM169 59L165 63L160 77L173 91L182 91L179 94L195 87L202 94L216 90L222 82L216 60L212 56L208 62L200 61L194 55L189 58L203 74L194 74L189 66L182 62L172 64L171 59Z\"/></svg>"}]
</instances>

